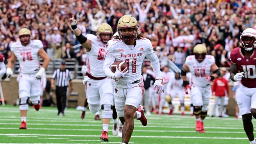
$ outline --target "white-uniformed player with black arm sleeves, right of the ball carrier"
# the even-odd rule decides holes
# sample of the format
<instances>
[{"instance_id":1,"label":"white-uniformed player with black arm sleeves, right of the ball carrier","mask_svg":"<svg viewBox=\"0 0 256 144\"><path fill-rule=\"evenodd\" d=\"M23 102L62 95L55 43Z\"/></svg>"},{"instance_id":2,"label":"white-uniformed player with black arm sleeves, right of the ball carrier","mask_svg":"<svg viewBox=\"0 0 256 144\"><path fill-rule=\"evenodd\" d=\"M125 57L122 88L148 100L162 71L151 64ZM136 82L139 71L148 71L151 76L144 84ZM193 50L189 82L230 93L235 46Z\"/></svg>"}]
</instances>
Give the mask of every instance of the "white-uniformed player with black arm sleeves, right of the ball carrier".
<instances>
[{"instance_id":1,"label":"white-uniformed player with black arm sleeves, right of the ball carrier","mask_svg":"<svg viewBox=\"0 0 256 144\"><path fill-rule=\"evenodd\" d=\"M186 58L182 66L181 78L185 92L188 94L188 89L191 89L191 102L194 107L194 115L196 116L196 131L205 133L204 118L207 116L208 105L212 90L210 81L218 78L220 71L215 64L215 59L212 55L206 55L207 49L203 44L197 44L194 49L194 55ZM189 85L186 73L191 72L191 84Z\"/></svg>"}]
</instances>

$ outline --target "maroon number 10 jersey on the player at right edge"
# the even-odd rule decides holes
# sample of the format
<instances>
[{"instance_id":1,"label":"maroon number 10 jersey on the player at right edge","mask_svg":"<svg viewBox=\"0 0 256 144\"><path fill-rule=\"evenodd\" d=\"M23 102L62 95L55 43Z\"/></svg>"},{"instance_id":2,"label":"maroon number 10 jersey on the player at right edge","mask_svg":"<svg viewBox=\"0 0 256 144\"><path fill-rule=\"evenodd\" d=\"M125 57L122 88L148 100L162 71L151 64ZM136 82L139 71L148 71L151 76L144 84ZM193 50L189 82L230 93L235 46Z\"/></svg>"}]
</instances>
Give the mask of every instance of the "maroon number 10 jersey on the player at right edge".
<instances>
[{"instance_id":1,"label":"maroon number 10 jersey on the player at right edge","mask_svg":"<svg viewBox=\"0 0 256 144\"><path fill-rule=\"evenodd\" d=\"M256 87L256 53L255 50L251 57L246 58L241 48L234 48L230 53L231 62L238 66L240 72L244 71L244 78L241 83L248 88Z\"/></svg>"}]
</instances>

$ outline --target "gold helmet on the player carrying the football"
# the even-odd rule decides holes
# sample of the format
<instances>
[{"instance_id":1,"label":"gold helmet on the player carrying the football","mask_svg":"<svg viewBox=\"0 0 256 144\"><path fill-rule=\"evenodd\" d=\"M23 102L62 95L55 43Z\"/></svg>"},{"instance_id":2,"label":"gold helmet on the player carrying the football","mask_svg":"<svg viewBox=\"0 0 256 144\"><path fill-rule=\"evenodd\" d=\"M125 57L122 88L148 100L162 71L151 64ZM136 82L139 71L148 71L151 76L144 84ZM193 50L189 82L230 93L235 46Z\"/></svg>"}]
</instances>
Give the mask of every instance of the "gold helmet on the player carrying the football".
<instances>
[{"instance_id":1,"label":"gold helmet on the player carrying the football","mask_svg":"<svg viewBox=\"0 0 256 144\"><path fill-rule=\"evenodd\" d=\"M133 34L122 33L122 29L134 28ZM133 41L138 36L138 22L132 15L124 15L117 22L119 38L124 42Z\"/></svg>"}]
</instances>

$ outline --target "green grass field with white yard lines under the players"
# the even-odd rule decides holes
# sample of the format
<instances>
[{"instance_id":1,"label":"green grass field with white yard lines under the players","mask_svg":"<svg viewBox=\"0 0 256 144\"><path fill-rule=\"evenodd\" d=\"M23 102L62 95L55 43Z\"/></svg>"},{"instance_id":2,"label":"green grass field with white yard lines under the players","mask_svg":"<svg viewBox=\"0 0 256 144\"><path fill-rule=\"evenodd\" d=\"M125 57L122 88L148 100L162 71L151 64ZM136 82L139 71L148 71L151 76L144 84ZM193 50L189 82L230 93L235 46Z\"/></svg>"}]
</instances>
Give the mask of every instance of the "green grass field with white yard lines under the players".
<instances>
[{"instance_id":1,"label":"green grass field with white yard lines under the players","mask_svg":"<svg viewBox=\"0 0 256 144\"><path fill-rule=\"evenodd\" d=\"M18 106L0 106L0 143L82 143L121 144L122 138L112 135L112 121L108 131L109 142L100 140L101 121L94 114L67 108L65 116L57 116L57 108L43 107L39 111L30 107L27 129L18 129L21 124ZM242 120L206 117L206 133L195 132L195 118L191 116L156 115L147 116L148 126L143 127L134 120L134 132L129 144L249 144ZM253 119L255 123L255 119Z\"/></svg>"}]
</instances>

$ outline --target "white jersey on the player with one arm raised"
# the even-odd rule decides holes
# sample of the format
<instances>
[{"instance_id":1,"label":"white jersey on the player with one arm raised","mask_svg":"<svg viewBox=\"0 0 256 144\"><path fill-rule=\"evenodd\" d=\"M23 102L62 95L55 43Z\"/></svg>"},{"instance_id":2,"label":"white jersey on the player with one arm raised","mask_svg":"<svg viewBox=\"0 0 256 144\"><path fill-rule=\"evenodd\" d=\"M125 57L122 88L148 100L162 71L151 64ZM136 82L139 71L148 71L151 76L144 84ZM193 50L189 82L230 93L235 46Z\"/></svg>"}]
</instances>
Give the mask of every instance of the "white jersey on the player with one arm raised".
<instances>
[{"instance_id":1,"label":"white jersey on the player with one arm raised","mask_svg":"<svg viewBox=\"0 0 256 144\"><path fill-rule=\"evenodd\" d=\"M102 43L97 36L93 34L87 34L86 38L92 43L91 50L87 53L87 73L100 78L105 77L103 74L103 63L107 55L106 44Z\"/></svg>"}]
</instances>

